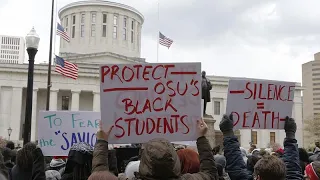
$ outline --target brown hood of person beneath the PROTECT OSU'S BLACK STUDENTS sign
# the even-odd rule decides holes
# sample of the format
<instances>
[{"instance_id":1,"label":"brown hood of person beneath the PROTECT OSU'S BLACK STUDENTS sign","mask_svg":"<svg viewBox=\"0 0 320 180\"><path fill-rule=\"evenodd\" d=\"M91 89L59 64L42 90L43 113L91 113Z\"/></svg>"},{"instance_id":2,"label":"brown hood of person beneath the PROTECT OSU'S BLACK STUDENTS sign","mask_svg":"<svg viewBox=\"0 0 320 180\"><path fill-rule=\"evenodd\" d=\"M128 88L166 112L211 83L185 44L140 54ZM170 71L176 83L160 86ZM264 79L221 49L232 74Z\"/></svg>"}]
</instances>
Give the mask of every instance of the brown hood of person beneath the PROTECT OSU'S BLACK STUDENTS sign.
<instances>
[{"instance_id":1,"label":"brown hood of person beneath the PROTECT OSU'S BLACK STUDENTS sign","mask_svg":"<svg viewBox=\"0 0 320 180\"><path fill-rule=\"evenodd\" d=\"M141 179L178 179L180 174L180 160L169 141L153 139L145 144L139 166Z\"/></svg>"}]
</instances>

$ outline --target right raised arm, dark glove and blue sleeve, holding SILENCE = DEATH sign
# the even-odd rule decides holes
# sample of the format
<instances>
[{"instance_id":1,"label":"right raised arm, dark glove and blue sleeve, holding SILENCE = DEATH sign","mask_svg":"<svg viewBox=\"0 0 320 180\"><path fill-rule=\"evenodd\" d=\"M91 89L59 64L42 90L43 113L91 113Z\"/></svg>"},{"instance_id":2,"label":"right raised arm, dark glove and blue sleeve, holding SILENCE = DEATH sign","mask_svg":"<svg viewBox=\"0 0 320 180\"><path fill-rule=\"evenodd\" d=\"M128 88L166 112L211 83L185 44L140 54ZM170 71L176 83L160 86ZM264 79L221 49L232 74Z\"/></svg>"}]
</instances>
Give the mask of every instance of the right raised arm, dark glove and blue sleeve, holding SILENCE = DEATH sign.
<instances>
[{"instance_id":1,"label":"right raised arm, dark glove and blue sleeve, holding SILENCE = DEATH sign","mask_svg":"<svg viewBox=\"0 0 320 180\"><path fill-rule=\"evenodd\" d=\"M295 139L297 125L293 118L286 117L284 130L286 132L286 138L283 142L284 155L282 158L287 168L286 179L303 179L301 174L298 144Z\"/></svg>"}]
</instances>

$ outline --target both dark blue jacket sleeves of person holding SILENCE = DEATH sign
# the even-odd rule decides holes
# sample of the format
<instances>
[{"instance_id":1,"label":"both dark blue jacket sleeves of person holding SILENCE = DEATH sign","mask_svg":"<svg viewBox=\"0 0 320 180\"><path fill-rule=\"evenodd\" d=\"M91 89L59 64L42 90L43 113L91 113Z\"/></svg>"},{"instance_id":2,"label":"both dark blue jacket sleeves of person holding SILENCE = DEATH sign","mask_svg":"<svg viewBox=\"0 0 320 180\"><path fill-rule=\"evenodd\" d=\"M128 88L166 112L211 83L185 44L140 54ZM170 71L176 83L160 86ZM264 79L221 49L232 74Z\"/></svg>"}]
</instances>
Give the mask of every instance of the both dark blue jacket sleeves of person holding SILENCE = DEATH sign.
<instances>
[{"instance_id":1,"label":"both dark blue jacket sleeves of person holding SILENCE = DEATH sign","mask_svg":"<svg viewBox=\"0 0 320 180\"><path fill-rule=\"evenodd\" d=\"M227 159L226 171L232 180L250 180L252 174L249 173L243 161L240 151L240 144L237 137L224 137L224 156ZM296 139L284 140L284 156L283 161L286 164L286 179L302 180L301 167L299 165L299 152Z\"/></svg>"}]
</instances>

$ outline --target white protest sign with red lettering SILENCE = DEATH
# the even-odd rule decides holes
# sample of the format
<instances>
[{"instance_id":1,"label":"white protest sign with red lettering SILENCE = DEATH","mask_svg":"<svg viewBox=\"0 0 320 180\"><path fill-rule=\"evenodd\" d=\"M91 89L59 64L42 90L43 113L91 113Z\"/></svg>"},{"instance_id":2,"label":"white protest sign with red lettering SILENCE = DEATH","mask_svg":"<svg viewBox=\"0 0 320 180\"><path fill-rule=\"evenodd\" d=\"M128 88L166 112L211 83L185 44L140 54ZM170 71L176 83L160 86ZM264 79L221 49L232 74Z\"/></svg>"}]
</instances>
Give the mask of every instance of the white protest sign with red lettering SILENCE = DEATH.
<instances>
[{"instance_id":1,"label":"white protest sign with red lettering SILENCE = DEATH","mask_svg":"<svg viewBox=\"0 0 320 180\"><path fill-rule=\"evenodd\" d=\"M227 114L233 114L234 129L283 129L294 91L294 82L229 80Z\"/></svg>"}]
</instances>

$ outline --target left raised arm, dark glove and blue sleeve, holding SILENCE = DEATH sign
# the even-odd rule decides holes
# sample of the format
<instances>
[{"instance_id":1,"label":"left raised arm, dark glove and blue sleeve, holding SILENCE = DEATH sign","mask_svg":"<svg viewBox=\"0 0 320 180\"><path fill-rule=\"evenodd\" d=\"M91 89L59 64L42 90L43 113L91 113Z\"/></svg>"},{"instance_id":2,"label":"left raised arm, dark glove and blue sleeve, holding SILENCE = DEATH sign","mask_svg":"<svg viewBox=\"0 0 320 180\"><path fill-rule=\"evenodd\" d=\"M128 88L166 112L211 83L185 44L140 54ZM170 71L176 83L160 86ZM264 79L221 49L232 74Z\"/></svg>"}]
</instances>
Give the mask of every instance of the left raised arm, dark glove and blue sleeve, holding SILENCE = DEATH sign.
<instances>
[{"instance_id":1,"label":"left raised arm, dark glove and blue sleeve, holding SILENCE = DEATH sign","mask_svg":"<svg viewBox=\"0 0 320 180\"><path fill-rule=\"evenodd\" d=\"M223 133L224 156L227 160L226 171L230 179L249 179L247 167L241 155L240 144L233 132L232 115L224 115L219 126Z\"/></svg>"}]
</instances>

